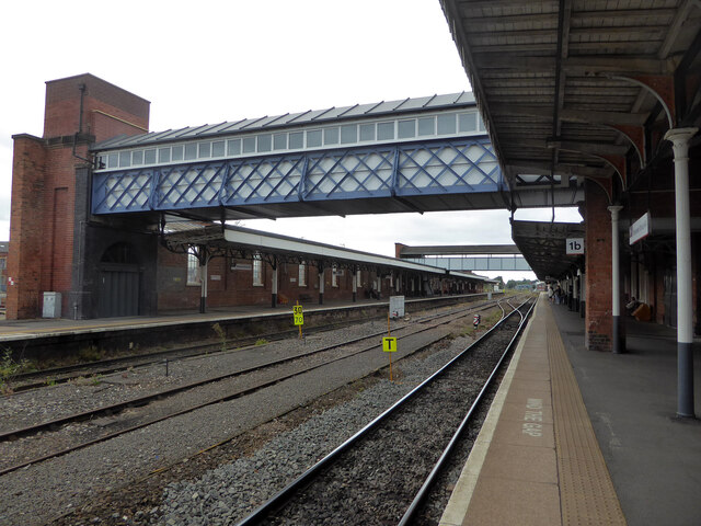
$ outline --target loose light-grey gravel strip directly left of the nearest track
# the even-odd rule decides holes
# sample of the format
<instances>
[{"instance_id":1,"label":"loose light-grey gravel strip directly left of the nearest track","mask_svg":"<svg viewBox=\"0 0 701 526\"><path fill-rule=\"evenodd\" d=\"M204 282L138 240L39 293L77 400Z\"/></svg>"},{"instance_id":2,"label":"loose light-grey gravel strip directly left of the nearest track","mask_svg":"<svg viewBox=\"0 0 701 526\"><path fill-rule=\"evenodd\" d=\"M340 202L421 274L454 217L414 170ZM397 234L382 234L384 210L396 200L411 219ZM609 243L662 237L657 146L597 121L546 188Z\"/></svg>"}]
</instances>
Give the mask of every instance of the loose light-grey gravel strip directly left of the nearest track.
<instances>
[{"instance_id":1,"label":"loose light-grey gravel strip directly left of the nearest track","mask_svg":"<svg viewBox=\"0 0 701 526\"><path fill-rule=\"evenodd\" d=\"M163 494L158 524L227 525L242 519L470 343L458 339L424 359L406 361L401 365L401 381L383 379L354 400L280 434L252 456L220 466L197 480L171 484ZM390 470L391 464L388 459ZM343 517L317 518L315 524L336 524L334 519L345 524ZM357 518L358 524L371 524L367 515Z\"/></svg>"}]
</instances>

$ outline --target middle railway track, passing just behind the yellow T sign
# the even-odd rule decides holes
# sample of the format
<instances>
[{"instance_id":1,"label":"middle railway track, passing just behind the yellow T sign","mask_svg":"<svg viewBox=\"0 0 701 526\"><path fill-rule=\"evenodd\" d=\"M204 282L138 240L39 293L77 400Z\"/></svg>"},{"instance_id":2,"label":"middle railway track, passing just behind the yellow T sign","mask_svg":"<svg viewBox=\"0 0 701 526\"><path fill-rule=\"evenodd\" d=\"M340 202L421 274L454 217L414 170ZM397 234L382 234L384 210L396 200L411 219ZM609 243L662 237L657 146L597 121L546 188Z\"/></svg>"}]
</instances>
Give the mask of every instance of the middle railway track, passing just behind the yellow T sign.
<instances>
[{"instance_id":1,"label":"middle railway track, passing just behind the yellow T sign","mask_svg":"<svg viewBox=\"0 0 701 526\"><path fill-rule=\"evenodd\" d=\"M453 309L450 310L448 312L440 312L440 313L436 313L429 317L423 317L418 320L416 320L417 324L421 325L418 327L418 329L416 329L415 327L412 325L407 325L404 327L402 329L395 329L394 335L397 335L399 339L404 339L404 338L410 338L412 335L415 334L420 334L423 332L427 332L430 330L434 330L435 328L446 324L446 323L450 323L452 321L455 321L456 319L459 319L461 317L464 317L466 315L470 315L474 311L479 311L479 310L485 310L485 309L490 309L493 308L494 305L496 302L487 302L487 304L481 304L479 306L472 306L472 307L467 307L467 308L461 308L461 309ZM38 424L35 425L31 425L31 426L26 426L23 428L14 428L14 430L10 430L8 432L4 432L2 434L0 434L0 442L2 441L9 441L9 439L16 439L18 437L22 437L22 436L36 436L37 434L43 433L44 436L42 436L42 439L44 441L49 441L51 433L50 431L53 430L57 430L60 428L67 424L73 424L77 422L83 422L83 421L90 421L93 419L97 419L100 416L103 415L110 415L111 418L114 418L114 415L119 414L120 412L125 411L126 409L133 409L133 408L143 408L147 407L148 404L156 402L156 401L162 401L164 398L169 398L169 397L174 397L179 393L186 393L187 391L192 391L193 389L203 387L203 386L208 386L211 384L221 384L225 380L231 379L231 378L235 378L235 377L242 377L245 375L254 375L254 374L260 374L262 370L264 369L275 369L275 368L279 368L279 366L284 365L284 364L289 364L289 363L294 363L294 362L299 362L306 358L309 358L310 356L315 356L317 361L313 365L311 366L300 366L297 369L294 370L289 370L287 369L286 371L279 371L276 374L272 374L272 375L267 375L267 378L261 381L252 381L249 382L249 385L246 387L235 387L233 389L225 389L225 393L223 395L218 395L218 396L214 396L210 397L207 401L203 402L203 403L197 403L197 404L189 404L187 407L185 407L184 409L179 409L176 411L173 410L162 410L162 408L160 410L154 410L152 412L152 414L149 414L148 410L145 410L145 415L142 415L139 419L139 422L137 424L134 424L134 414L129 415L128 420L128 425L127 424L113 424L111 425L112 428L115 428L115 431L110 432L110 433L97 433L96 436L92 436L90 439L84 439L82 438L81 441L79 441L78 443L76 443L76 441L73 439L71 442L70 445L68 445L67 447L61 447L58 450L51 450L48 454L45 455L41 455L41 456L35 456L33 458L26 459L22 462L18 462L14 464L12 466L3 466L0 469L0 476L15 471L18 469L21 469L23 467L26 467L31 464L36 464L39 461L44 461L44 460L48 460L50 458L55 458L57 456L60 455L65 455L68 454L70 451L100 443L100 442L104 442L111 438L114 438L116 436L119 436L122 434L125 433L129 433L133 431L136 431L138 428L141 427L146 427L148 425L151 425L156 422L160 422L163 420L168 420L171 418L174 418L176 415L181 415L181 414L185 414L188 412L193 412L196 411L197 409L202 409L204 407L207 405L211 405L215 403L219 403L222 401L227 401L227 400L231 400L233 398L238 398L238 397L242 397L245 395L249 395L251 392L254 392L256 390L263 389L265 387L268 387L271 385L284 381L285 379L295 377L295 376L299 376L301 374L304 374L309 370L312 370L314 368L319 368L322 367L324 365L329 365L333 362L340 362L343 361L349 356L355 356L357 354L361 354L364 352L369 352L369 351L374 351L377 350L378 346L378 342L377 339L379 335L384 334L384 331L382 332L377 332L374 333L371 335L367 335L367 336L363 336L359 339L356 339L352 342L343 342L341 344L334 344L331 346L326 346L320 350L314 350L314 351L310 351L307 353L302 353L302 354L298 354L298 355L294 355L294 356L287 356L285 358L281 359L275 359L269 363L266 364L261 364L258 366L255 367L250 367L248 369L239 369L232 373L227 373L223 375L218 375L217 377L214 378L207 378L205 380L199 380L196 382L191 382L187 385L182 385L182 386L177 386L168 390L161 390L158 392L153 392L143 397L137 397L137 398L131 398L129 400L125 400L123 402L116 403L116 404L111 404L108 407L103 407L103 408L97 408L95 410L91 410L91 411L85 411L85 412L81 412L81 413L76 413L76 414L69 414L69 415L65 415L62 418L59 419L53 419L50 421L45 421L45 422L41 422ZM367 342L370 341L371 343L366 343L363 344L363 342ZM432 341L433 343L433 341ZM342 352L341 350L343 347L348 347L348 345L354 344L354 345L359 345L359 348L353 348L349 352ZM326 355L326 357L319 359L320 355ZM131 411L133 413L134 411Z\"/></svg>"}]
</instances>

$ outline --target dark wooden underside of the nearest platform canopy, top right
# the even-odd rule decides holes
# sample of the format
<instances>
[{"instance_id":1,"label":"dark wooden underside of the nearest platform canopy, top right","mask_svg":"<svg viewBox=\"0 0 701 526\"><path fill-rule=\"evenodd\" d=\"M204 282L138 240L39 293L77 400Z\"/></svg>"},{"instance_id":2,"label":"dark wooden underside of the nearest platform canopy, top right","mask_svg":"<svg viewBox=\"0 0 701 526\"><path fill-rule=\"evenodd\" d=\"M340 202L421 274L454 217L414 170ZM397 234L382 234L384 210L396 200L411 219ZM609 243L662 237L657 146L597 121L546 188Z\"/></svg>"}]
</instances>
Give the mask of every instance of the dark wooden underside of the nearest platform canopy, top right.
<instances>
[{"instance_id":1,"label":"dark wooden underside of the nearest platform canopy, top right","mask_svg":"<svg viewBox=\"0 0 701 526\"><path fill-rule=\"evenodd\" d=\"M671 122L669 101L698 116L701 94L675 90L675 77L699 68L698 1L441 4L517 208L527 190L583 178L625 187L627 172L657 153L646 151L645 128L686 124Z\"/></svg>"}]
</instances>

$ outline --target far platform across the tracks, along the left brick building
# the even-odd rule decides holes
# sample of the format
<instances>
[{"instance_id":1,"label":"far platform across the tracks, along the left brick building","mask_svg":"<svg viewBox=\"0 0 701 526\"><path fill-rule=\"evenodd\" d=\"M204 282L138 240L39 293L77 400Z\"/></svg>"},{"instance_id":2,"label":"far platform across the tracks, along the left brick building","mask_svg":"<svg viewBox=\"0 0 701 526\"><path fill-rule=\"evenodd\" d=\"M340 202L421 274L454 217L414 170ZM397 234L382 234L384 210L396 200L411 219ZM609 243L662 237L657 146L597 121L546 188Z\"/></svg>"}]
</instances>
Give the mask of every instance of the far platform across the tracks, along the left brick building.
<instances>
[{"instance_id":1,"label":"far platform across the tracks, along the left brick building","mask_svg":"<svg viewBox=\"0 0 701 526\"><path fill-rule=\"evenodd\" d=\"M498 294L495 294L495 297ZM487 293L406 298L405 311L439 308L460 301L483 300ZM304 329L343 321L387 316L389 298L357 301L326 300L303 305ZM292 306L238 306L193 311L162 312L152 317L97 318L90 320L34 319L1 320L0 345L23 357L49 355L97 347L106 351L148 348L203 342L221 338L212 330L219 324L228 340L266 332L296 330Z\"/></svg>"}]
</instances>

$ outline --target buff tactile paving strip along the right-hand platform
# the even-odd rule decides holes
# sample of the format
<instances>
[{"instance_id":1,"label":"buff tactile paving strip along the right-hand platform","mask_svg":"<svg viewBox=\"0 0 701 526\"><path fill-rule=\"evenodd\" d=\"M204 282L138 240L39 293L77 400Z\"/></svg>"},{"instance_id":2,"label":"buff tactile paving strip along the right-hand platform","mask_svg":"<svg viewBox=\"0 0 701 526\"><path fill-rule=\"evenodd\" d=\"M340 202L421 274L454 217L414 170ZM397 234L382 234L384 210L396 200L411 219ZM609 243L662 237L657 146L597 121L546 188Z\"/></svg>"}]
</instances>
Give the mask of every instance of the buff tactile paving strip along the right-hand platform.
<instances>
[{"instance_id":1,"label":"buff tactile paving strip along the right-hand platform","mask_svg":"<svg viewBox=\"0 0 701 526\"><path fill-rule=\"evenodd\" d=\"M547 304L545 304L547 305ZM562 524L624 525L552 310L545 310Z\"/></svg>"}]
</instances>

